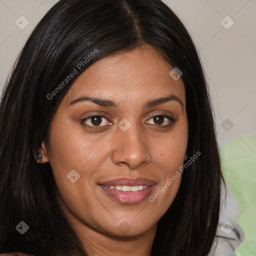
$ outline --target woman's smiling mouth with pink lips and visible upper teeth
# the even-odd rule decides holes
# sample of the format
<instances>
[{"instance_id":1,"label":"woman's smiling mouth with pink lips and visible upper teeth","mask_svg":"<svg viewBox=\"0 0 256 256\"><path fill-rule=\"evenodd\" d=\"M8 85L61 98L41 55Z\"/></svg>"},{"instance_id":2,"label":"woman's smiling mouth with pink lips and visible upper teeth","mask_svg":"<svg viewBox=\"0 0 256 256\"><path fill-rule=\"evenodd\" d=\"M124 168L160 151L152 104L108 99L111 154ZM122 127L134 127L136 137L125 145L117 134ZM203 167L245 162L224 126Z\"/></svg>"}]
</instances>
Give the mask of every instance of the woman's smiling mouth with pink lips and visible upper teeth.
<instances>
[{"instance_id":1,"label":"woman's smiling mouth with pink lips and visible upper teeth","mask_svg":"<svg viewBox=\"0 0 256 256\"><path fill-rule=\"evenodd\" d=\"M102 191L122 204L136 204L149 197L156 182L146 178L117 178L98 185Z\"/></svg>"}]
</instances>

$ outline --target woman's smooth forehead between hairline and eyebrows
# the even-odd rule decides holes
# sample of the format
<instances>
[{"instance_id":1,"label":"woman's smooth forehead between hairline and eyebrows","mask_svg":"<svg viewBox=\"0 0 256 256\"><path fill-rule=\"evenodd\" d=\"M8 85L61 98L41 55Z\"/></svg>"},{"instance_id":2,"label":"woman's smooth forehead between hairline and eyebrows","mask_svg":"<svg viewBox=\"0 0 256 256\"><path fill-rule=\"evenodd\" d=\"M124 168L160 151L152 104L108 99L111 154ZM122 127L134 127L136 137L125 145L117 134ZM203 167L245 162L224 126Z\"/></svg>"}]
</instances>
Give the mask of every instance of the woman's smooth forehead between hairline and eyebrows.
<instances>
[{"instance_id":1,"label":"woman's smooth forehead between hairline and eyebrows","mask_svg":"<svg viewBox=\"0 0 256 256\"><path fill-rule=\"evenodd\" d=\"M172 69L149 45L112 54L80 74L67 91L64 102L69 104L83 94L111 98L116 102L127 99L142 102L172 93L185 104L184 84L181 78L174 80L169 75Z\"/></svg>"}]
</instances>

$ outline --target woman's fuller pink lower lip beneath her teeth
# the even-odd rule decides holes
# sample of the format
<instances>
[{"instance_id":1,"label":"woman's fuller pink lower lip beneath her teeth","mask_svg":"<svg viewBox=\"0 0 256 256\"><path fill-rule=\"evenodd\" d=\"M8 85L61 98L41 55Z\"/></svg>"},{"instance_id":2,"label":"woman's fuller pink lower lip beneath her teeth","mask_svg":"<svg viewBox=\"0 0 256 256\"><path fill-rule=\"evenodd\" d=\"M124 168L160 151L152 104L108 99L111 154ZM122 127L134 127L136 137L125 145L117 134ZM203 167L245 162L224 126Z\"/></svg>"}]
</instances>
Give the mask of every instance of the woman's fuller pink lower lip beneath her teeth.
<instances>
[{"instance_id":1,"label":"woman's fuller pink lower lip beneath her teeth","mask_svg":"<svg viewBox=\"0 0 256 256\"><path fill-rule=\"evenodd\" d=\"M123 204L135 204L146 199L149 196L154 185L148 186L138 191L120 191L116 190L115 188L109 188L103 185L100 185L100 187L103 189L103 191L106 192L107 195L112 197L117 202Z\"/></svg>"}]
</instances>

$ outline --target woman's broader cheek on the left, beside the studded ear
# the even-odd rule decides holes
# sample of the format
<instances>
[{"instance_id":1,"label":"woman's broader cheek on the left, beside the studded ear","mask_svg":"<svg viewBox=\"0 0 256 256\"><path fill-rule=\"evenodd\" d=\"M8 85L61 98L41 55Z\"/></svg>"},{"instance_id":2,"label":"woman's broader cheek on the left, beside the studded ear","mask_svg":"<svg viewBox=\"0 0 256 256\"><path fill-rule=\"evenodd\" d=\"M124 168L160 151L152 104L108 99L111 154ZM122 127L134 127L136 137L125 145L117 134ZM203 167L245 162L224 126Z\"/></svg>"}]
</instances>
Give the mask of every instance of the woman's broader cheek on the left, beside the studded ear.
<instances>
[{"instance_id":1,"label":"woman's broader cheek on the left, beside the studded ear","mask_svg":"<svg viewBox=\"0 0 256 256\"><path fill-rule=\"evenodd\" d=\"M51 126L49 162L58 190L64 188L60 191L61 197L66 198L71 207L75 208L74 201L90 200L97 170L109 164L106 161L111 137L110 133L89 134L73 123L55 122Z\"/></svg>"}]
</instances>

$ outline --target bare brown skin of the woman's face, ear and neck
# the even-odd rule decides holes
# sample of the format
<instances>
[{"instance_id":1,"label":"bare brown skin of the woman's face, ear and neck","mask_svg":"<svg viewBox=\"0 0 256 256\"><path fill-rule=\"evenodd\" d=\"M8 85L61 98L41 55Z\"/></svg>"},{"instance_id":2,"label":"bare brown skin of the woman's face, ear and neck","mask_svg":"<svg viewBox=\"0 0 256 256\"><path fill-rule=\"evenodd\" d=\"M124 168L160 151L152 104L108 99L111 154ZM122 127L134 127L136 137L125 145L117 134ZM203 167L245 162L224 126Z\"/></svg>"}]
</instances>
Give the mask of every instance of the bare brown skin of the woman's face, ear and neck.
<instances>
[{"instance_id":1,"label":"bare brown skin of the woman's face, ear and neck","mask_svg":"<svg viewBox=\"0 0 256 256\"><path fill-rule=\"evenodd\" d=\"M187 146L185 89L181 78L169 75L172 68L149 45L110 55L75 80L54 115L49 141L40 148L41 162L50 162L59 202L88 255L150 255L157 221L171 205L181 175L154 202L146 198L129 205L113 200L98 183L150 178L156 182L153 195L182 165ZM148 100L169 94L183 106L170 100L142 108ZM113 100L117 108L89 100L70 105L81 95ZM85 125L96 126L92 118L81 122L90 113L105 116L96 129ZM157 122L151 116L156 113L176 121ZM131 124L126 131L118 127L123 118ZM74 183L67 178L72 169L80 175ZM119 228L123 223L126 232Z\"/></svg>"}]
</instances>

